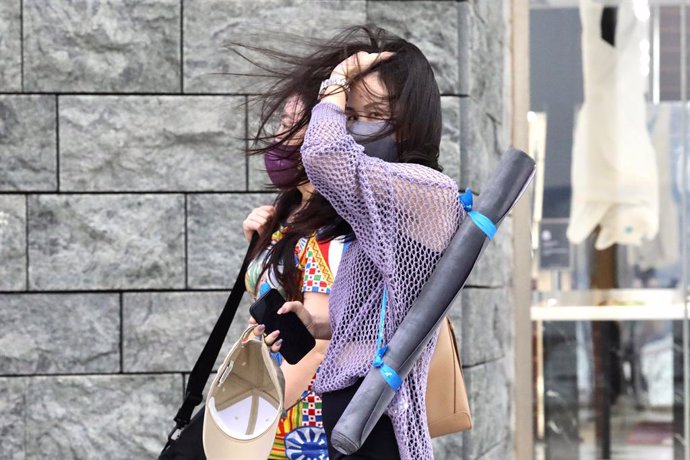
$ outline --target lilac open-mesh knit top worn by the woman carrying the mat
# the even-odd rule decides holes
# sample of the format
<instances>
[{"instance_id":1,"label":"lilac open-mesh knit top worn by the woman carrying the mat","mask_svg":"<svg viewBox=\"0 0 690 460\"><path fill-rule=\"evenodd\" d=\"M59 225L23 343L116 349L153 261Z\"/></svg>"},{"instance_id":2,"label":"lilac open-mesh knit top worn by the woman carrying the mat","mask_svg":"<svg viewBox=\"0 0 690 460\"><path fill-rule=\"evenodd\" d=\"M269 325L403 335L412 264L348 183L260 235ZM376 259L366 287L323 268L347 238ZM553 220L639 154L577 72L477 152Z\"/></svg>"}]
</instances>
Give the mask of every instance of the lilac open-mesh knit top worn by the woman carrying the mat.
<instances>
[{"instance_id":1,"label":"lilac open-mesh knit top worn by the woman carrying the mat","mask_svg":"<svg viewBox=\"0 0 690 460\"><path fill-rule=\"evenodd\" d=\"M309 180L354 230L330 296L331 342L315 383L319 393L354 384L371 368L384 286L387 343L438 263L465 213L448 176L364 153L335 104L312 111L302 146ZM426 381L436 336L388 407L403 460L433 458ZM385 360L385 358L384 358Z\"/></svg>"}]
</instances>

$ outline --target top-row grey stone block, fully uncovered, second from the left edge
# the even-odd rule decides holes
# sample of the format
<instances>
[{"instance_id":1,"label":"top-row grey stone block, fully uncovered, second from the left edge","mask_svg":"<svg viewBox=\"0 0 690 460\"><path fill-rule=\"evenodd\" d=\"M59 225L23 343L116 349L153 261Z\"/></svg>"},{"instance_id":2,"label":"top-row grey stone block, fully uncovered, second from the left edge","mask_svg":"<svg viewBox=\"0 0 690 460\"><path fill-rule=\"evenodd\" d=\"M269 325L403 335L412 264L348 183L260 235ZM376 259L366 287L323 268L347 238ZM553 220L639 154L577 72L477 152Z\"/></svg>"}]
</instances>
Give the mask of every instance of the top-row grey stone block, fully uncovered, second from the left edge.
<instances>
[{"instance_id":1,"label":"top-row grey stone block, fully uncovered, second from the left edge","mask_svg":"<svg viewBox=\"0 0 690 460\"><path fill-rule=\"evenodd\" d=\"M24 0L24 90L179 92L181 5Z\"/></svg>"}]
</instances>

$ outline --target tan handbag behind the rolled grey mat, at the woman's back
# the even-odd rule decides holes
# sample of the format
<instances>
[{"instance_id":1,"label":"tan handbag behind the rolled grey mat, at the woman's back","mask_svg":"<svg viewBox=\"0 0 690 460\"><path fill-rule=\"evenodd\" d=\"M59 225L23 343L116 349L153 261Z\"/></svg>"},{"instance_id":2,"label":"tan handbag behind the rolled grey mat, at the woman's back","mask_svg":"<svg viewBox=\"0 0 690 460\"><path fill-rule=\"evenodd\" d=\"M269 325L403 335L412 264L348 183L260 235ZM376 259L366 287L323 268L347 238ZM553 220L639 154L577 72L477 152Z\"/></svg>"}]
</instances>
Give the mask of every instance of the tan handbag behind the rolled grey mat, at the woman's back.
<instances>
[{"instance_id":1,"label":"tan handbag behind the rolled grey mat, at the woman's back","mask_svg":"<svg viewBox=\"0 0 690 460\"><path fill-rule=\"evenodd\" d=\"M426 415L432 438L472 428L472 415L462 374L453 324L443 319L429 365Z\"/></svg>"}]
</instances>

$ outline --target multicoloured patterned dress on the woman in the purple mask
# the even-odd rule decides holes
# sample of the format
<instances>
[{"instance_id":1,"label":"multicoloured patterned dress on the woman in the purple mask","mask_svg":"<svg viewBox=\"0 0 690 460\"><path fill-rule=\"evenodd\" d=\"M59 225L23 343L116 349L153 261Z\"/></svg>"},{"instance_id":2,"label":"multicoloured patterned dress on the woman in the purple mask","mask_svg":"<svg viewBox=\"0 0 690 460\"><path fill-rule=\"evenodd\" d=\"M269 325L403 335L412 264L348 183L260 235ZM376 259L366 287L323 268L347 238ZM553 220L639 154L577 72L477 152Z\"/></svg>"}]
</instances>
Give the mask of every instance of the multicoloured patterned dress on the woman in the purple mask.
<instances>
[{"instance_id":1,"label":"multicoloured patterned dress on the woman in the purple mask","mask_svg":"<svg viewBox=\"0 0 690 460\"><path fill-rule=\"evenodd\" d=\"M286 228L281 226L273 234L272 244L283 237L285 230ZM340 259L347 246L348 243L344 243L342 238L319 242L316 235L302 238L297 243L295 246L295 264L301 273L299 278L303 293L331 293ZM285 290L280 286L275 275L269 273L269 270L259 279L267 252L262 252L249 264L245 278L247 291L256 298L269 289L275 288L283 296L286 296ZM269 460L328 459L326 433L323 430L321 416L321 398L312 391L312 385L317 374L312 377L309 386L302 393L301 399L296 404L286 408L286 414L278 424L273 449L268 457Z\"/></svg>"}]
</instances>

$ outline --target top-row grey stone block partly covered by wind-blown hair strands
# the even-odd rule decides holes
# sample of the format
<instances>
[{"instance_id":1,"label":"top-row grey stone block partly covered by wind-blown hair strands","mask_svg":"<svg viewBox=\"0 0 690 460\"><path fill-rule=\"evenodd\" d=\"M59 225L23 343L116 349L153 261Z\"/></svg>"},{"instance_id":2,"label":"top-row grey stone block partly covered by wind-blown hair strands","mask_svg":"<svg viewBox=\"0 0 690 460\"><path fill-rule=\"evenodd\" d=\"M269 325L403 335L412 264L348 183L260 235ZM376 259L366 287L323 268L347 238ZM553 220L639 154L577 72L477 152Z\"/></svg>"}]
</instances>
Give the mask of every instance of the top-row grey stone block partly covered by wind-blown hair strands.
<instances>
[{"instance_id":1,"label":"top-row grey stone block partly covered by wind-blown hair strands","mask_svg":"<svg viewBox=\"0 0 690 460\"><path fill-rule=\"evenodd\" d=\"M329 37L340 27L366 22L365 0L202 0L184 4L184 90L256 92L255 77L219 73L256 73L228 49L241 41L295 50L298 37ZM253 55L254 56L254 55Z\"/></svg>"}]
</instances>

